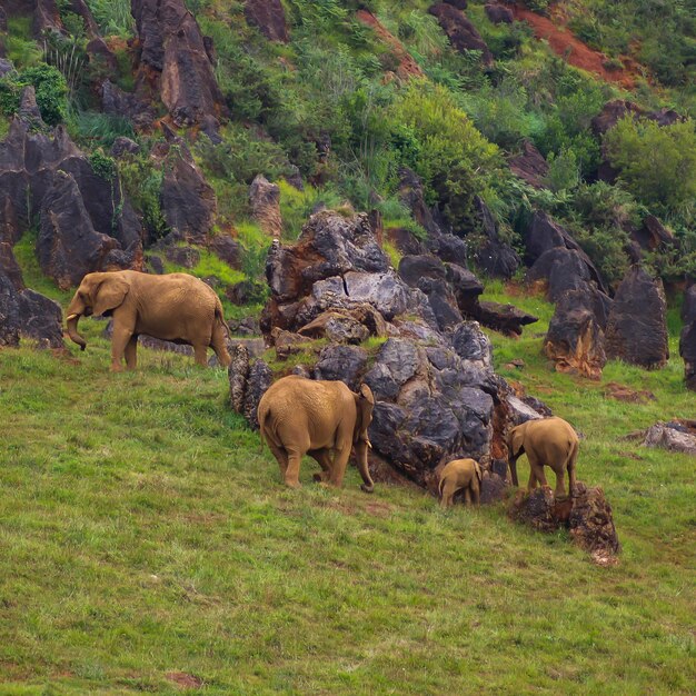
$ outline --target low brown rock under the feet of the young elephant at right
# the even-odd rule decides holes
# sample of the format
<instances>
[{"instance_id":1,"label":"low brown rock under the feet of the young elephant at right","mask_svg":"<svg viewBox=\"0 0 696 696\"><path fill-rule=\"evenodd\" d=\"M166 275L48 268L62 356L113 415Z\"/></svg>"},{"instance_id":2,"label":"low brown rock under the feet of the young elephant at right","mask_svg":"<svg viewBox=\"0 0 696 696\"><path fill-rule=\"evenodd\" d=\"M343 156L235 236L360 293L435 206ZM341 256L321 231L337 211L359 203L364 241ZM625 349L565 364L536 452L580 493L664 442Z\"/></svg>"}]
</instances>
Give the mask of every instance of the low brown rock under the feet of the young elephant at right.
<instances>
[{"instance_id":1,"label":"low brown rock under the feet of the young elephant at right","mask_svg":"<svg viewBox=\"0 0 696 696\"><path fill-rule=\"evenodd\" d=\"M570 537L591 555L598 565L614 565L619 551L612 506L601 488L576 485L570 499L556 500L550 488L520 491L509 508L509 516L533 529L554 533L568 528Z\"/></svg>"}]
</instances>

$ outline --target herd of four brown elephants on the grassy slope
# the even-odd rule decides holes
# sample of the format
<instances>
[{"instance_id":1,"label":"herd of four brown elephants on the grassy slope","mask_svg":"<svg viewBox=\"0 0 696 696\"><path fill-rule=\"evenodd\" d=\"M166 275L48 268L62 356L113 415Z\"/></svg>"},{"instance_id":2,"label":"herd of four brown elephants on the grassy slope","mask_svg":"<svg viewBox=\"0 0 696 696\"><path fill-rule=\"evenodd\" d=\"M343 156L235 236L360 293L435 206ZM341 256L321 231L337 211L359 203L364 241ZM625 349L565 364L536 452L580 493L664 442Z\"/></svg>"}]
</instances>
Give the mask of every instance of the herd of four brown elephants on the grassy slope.
<instances>
[{"instance_id":1,"label":"herd of four brown elephants on the grassy slope","mask_svg":"<svg viewBox=\"0 0 696 696\"><path fill-rule=\"evenodd\" d=\"M202 280L186 274L153 276L139 271L88 274L82 279L67 310L67 330L83 350L84 339L78 332L81 317L111 316L111 369L128 369L137 364L138 336L145 334L193 347L196 362L207 365L212 348L220 365L228 366L228 331L222 305L216 292ZM302 456L309 455L321 467L316 480L341 486L348 459L355 451L362 477L362 490L371 493L374 481L367 455L371 447L368 428L372 420L375 398L367 385L358 392L342 381L312 380L297 375L278 379L261 397L258 420L262 439L278 460L286 485L297 488ZM568 496L575 487L578 437L561 418L529 420L513 428L507 438L513 484L518 485L517 459L527 455L530 474L528 489L547 486L544 466L556 474L556 498L565 498L565 474ZM464 490L467 504L478 504L481 469L474 459L455 459L441 471L441 505L454 503Z\"/></svg>"}]
</instances>

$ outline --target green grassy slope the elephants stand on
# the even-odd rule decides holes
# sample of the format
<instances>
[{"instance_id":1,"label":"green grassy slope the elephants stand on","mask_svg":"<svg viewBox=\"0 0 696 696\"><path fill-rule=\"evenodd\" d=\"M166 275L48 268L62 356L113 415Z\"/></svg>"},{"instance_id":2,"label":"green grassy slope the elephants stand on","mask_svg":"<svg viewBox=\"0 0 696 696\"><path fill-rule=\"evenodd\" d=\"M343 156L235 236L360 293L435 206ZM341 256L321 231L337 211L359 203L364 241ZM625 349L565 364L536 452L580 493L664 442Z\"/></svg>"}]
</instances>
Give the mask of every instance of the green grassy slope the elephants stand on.
<instances>
[{"instance_id":1,"label":"green grassy slope the elephants stand on","mask_svg":"<svg viewBox=\"0 0 696 696\"><path fill-rule=\"evenodd\" d=\"M141 350L112 375L101 326L83 321L84 354L0 352L0 693L693 688L694 460L619 439L693 416L677 358L595 384L549 371L543 326L493 335L500 371L585 434L579 478L604 487L623 544L599 568L503 506L367 496L355 469L328 490L308 461L290 491L225 371ZM605 398L612 380L656 400Z\"/></svg>"}]
</instances>

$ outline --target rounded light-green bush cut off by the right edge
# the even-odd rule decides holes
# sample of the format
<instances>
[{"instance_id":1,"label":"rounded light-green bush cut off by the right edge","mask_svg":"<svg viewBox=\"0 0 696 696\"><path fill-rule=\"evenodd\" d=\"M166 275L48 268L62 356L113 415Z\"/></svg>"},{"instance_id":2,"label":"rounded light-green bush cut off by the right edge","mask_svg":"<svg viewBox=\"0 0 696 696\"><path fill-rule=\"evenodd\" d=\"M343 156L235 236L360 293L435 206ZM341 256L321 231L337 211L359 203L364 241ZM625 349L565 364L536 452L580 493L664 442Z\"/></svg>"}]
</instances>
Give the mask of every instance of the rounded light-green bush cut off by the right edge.
<instances>
[{"instance_id":1,"label":"rounded light-green bush cut off by the right edge","mask_svg":"<svg viewBox=\"0 0 696 696\"><path fill-rule=\"evenodd\" d=\"M607 158L638 200L660 211L692 211L696 199L696 130L693 120L660 128L627 117L604 137Z\"/></svg>"}]
</instances>

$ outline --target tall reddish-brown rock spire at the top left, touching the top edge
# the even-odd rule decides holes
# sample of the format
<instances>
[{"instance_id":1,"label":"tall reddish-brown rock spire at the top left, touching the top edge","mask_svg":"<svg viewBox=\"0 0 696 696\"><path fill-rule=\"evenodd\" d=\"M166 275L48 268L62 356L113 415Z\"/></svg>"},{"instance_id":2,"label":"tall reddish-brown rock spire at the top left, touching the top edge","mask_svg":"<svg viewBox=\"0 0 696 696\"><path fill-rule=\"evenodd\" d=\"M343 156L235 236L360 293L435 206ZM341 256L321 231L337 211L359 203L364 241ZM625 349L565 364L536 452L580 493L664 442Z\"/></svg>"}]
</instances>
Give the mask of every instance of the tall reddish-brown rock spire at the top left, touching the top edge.
<instances>
[{"instance_id":1,"label":"tall reddish-brown rock spire at the top left, touching the top edge","mask_svg":"<svg viewBox=\"0 0 696 696\"><path fill-rule=\"evenodd\" d=\"M159 91L178 127L226 111L206 39L183 0L131 0L140 40L140 83Z\"/></svg>"}]
</instances>

